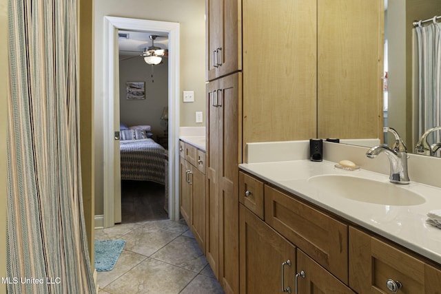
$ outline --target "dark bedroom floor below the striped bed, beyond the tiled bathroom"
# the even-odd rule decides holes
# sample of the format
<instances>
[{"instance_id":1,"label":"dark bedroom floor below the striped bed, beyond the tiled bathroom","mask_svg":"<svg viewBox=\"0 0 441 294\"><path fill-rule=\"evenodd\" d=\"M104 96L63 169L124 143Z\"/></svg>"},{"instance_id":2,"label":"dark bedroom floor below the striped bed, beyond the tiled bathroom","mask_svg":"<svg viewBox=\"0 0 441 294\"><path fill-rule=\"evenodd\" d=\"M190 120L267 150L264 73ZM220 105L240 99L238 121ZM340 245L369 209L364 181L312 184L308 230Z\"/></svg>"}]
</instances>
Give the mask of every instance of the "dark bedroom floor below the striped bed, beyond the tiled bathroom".
<instances>
[{"instance_id":1,"label":"dark bedroom floor below the striped bed, beyond the tiled bathroom","mask_svg":"<svg viewBox=\"0 0 441 294\"><path fill-rule=\"evenodd\" d=\"M122 223L167 219L168 214L164 209L164 194L164 186L155 182L122 180Z\"/></svg>"}]
</instances>

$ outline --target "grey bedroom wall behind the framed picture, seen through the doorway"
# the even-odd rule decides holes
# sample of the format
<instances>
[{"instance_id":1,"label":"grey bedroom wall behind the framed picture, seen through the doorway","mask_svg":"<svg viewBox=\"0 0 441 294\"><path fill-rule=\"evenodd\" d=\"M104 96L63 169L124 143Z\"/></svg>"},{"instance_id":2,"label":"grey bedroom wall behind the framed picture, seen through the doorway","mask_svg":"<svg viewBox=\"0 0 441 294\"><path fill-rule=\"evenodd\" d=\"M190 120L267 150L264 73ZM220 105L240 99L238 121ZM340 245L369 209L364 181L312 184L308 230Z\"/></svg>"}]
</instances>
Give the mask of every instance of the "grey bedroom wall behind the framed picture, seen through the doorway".
<instances>
[{"instance_id":1,"label":"grey bedroom wall behind the framed picture, seen through the doorway","mask_svg":"<svg viewBox=\"0 0 441 294\"><path fill-rule=\"evenodd\" d=\"M164 134L165 121L161 120L163 108L168 104L168 61L154 65L144 62L141 56L119 61L119 117L128 126L150 125L155 135ZM145 99L127 100L125 83L145 82Z\"/></svg>"}]
</instances>

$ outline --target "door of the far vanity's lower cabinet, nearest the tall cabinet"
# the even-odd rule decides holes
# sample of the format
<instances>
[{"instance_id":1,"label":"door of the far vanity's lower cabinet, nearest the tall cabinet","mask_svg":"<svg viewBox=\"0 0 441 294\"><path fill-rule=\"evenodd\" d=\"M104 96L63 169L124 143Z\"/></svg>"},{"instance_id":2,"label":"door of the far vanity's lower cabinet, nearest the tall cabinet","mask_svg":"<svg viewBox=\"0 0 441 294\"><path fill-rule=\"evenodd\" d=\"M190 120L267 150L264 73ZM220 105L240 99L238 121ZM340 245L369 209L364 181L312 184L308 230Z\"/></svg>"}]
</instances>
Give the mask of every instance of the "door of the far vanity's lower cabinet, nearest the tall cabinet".
<instances>
[{"instance_id":1,"label":"door of the far vanity's lower cabinet, nearest the tall cabinet","mask_svg":"<svg viewBox=\"0 0 441 294\"><path fill-rule=\"evenodd\" d=\"M201 250L205 254L205 175L192 167L192 221L191 228Z\"/></svg>"}]
</instances>

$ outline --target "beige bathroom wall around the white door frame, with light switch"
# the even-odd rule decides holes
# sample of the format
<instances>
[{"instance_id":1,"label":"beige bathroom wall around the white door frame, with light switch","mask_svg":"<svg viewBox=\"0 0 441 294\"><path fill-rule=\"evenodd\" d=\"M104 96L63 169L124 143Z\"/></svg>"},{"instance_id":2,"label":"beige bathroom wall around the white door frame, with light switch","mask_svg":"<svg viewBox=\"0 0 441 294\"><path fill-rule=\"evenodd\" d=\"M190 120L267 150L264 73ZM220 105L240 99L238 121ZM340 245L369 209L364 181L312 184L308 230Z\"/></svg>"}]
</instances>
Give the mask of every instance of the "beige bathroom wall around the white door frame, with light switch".
<instances>
[{"instance_id":1,"label":"beige bathroom wall around the white door frame, with light switch","mask_svg":"<svg viewBox=\"0 0 441 294\"><path fill-rule=\"evenodd\" d=\"M205 119L205 1L96 0L94 6L95 214L103 214L103 17L127 17L180 23L180 92L193 90L194 103L180 105L181 126L194 126L194 113ZM201 126L201 124L197 124ZM205 123L204 123L205 125Z\"/></svg>"}]
</instances>

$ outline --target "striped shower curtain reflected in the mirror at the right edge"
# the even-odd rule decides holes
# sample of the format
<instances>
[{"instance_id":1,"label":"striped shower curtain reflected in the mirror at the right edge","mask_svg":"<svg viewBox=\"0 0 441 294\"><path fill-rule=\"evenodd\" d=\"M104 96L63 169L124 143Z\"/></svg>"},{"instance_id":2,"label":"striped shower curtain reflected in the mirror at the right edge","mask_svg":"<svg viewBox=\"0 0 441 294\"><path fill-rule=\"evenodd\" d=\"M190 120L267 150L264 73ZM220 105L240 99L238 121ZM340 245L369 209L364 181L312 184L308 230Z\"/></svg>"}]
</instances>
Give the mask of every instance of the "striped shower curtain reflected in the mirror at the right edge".
<instances>
[{"instance_id":1,"label":"striped shower curtain reflected in the mirror at the right edge","mask_svg":"<svg viewBox=\"0 0 441 294\"><path fill-rule=\"evenodd\" d=\"M416 27L418 46L418 135L441 126L441 25L432 22ZM440 132L429 136L440 143Z\"/></svg>"}]
</instances>

